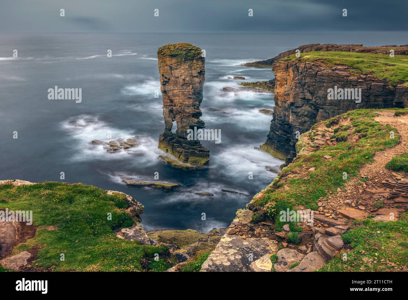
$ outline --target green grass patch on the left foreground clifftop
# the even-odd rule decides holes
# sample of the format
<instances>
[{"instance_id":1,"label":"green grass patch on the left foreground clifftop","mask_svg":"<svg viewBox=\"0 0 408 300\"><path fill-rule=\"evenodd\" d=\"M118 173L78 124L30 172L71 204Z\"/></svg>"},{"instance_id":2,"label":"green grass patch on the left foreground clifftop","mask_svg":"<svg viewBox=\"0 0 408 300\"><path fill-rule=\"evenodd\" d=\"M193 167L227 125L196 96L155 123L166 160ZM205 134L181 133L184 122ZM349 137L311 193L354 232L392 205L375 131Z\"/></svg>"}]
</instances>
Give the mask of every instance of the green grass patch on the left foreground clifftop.
<instances>
[{"instance_id":1,"label":"green grass patch on the left foreground clifftop","mask_svg":"<svg viewBox=\"0 0 408 300\"><path fill-rule=\"evenodd\" d=\"M140 271L141 260L163 258L166 247L119 239L115 227L133 224L126 200L91 185L58 182L0 186L0 208L32 210L34 238L13 249L18 254L40 248L38 267L54 271ZM108 213L112 220L108 220ZM60 260L60 254L65 260ZM157 264L156 264L157 265Z\"/></svg>"}]
</instances>

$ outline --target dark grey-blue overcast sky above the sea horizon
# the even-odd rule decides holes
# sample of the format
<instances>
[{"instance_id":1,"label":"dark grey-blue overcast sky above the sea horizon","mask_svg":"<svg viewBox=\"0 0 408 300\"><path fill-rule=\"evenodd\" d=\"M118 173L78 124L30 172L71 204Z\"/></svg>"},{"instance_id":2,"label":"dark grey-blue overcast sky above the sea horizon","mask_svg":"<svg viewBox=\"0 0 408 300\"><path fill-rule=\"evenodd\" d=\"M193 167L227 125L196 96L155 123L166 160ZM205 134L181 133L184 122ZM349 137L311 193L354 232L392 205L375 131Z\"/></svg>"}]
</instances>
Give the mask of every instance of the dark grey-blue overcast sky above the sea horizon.
<instances>
[{"instance_id":1,"label":"dark grey-blue overcast sky above the sea horizon","mask_svg":"<svg viewBox=\"0 0 408 300\"><path fill-rule=\"evenodd\" d=\"M406 31L407 13L407 0L0 0L0 31Z\"/></svg>"}]
</instances>

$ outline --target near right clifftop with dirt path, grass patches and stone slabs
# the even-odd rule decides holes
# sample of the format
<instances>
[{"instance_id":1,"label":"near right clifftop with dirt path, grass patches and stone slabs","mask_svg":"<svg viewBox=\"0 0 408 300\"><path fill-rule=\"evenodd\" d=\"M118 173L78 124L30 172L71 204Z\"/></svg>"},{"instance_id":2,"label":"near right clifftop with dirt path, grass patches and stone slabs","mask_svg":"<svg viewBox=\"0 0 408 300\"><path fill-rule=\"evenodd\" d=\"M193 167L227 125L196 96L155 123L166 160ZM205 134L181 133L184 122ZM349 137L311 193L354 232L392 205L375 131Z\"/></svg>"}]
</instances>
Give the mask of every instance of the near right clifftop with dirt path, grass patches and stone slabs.
<instances>
[{"instance_id":1,"label":"near right clifftop with dirt path, grass patches and stone slabs","mask_svg":"<svg viewBox=\"0 0 408 300\"><path fill-rule=\"evenodd\" d=\"M354 110L302 134L201 271L406 271L408 165L392 163L408 151L406 113ZM295 219L282 220L286 210Z\"/></svg>"}]
</instances>

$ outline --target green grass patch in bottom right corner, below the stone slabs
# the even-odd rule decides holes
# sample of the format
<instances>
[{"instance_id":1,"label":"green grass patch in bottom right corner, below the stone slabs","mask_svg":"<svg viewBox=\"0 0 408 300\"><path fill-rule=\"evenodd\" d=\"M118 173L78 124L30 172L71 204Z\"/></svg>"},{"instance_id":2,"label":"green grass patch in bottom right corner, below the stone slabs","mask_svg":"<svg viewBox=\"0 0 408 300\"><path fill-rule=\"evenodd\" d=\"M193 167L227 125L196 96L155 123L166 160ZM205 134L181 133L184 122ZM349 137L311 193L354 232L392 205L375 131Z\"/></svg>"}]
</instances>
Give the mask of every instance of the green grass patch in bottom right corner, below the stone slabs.
<instances>
[{"instance_id":1,"label":"green grass patch in bottom right corner, below the stone slabs","mask_svg":"<svg viewBox=\"0 0 408 300\"><path fill-rule=\"evenodd\" d=\"M401 215L398 221L365 219L355 222L342 238L350 250L342 250L319 271L406 271L408 213Z\"/></svg>"}]
</instances>

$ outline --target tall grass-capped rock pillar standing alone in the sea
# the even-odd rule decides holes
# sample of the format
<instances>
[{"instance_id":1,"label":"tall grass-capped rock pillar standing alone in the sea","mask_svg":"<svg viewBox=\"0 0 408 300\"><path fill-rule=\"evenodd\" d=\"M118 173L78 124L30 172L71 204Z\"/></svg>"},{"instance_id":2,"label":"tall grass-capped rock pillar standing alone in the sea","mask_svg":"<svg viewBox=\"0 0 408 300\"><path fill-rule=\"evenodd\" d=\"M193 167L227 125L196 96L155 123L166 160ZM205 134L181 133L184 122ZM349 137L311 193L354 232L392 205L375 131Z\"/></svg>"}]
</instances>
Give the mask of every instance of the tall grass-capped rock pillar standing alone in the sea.
<instances>
[{"instance_id":1,"label":"tall grass-capped rock pillar standing alone in the sea","mask_svg":"<svg viewBox=\"0 0 408 300\"><path fill-rule=\"evenodd\" d=\"M205 74L202 51L188 43L168 44L157 50L157 58L164 116L159 148L182 163L205 165L210 151L200 141L187 139L188 129L205 125L200 119Z\"/></svg>"}]
</instances>

